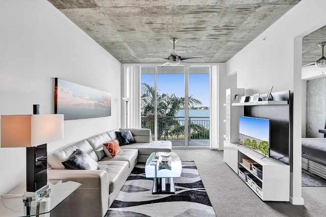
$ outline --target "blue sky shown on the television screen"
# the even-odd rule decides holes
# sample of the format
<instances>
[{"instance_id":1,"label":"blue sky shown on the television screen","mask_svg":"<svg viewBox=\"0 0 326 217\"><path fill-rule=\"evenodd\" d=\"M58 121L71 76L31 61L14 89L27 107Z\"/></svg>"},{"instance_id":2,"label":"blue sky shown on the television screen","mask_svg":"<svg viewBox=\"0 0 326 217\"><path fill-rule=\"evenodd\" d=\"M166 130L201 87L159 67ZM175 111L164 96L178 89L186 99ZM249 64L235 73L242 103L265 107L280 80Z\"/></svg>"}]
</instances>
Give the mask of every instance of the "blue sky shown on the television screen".
<instances>
[{"instance_id":1,"label":"blue sky shown on the television screen","mask_svg":"<svg viewBox=\"0 0 326 217\"><path fill-rule=\"evenodd\" d=\"M263 141L269 141L269 120L240 116L239 133Z\"/></svg>"}]
</instances>

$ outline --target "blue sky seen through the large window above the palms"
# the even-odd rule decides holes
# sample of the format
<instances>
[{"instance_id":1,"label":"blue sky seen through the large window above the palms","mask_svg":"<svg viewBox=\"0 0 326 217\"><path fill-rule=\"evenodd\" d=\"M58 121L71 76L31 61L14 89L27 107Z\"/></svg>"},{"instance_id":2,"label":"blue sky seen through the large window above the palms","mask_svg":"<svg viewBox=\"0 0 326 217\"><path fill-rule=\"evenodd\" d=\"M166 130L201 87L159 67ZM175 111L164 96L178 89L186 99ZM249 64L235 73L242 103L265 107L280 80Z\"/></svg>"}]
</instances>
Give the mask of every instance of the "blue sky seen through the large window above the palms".
<instances>
[{"instance_id":1,"label":"blue sky seen through the large window above the palms","mask_svg":"<svg viewBox=\"0 0 326 217\"><path fill-rule=\"evenodd\" d=\"M154 86L153 74L142 74L142 83ZM183 74L158 74L157 89L159 94L165 93L171 96L184 97L184 75ZM189 74L189 96L200 100L202 105L195 107L209 107L209 74Z\"/></svg>"}]
</instances>

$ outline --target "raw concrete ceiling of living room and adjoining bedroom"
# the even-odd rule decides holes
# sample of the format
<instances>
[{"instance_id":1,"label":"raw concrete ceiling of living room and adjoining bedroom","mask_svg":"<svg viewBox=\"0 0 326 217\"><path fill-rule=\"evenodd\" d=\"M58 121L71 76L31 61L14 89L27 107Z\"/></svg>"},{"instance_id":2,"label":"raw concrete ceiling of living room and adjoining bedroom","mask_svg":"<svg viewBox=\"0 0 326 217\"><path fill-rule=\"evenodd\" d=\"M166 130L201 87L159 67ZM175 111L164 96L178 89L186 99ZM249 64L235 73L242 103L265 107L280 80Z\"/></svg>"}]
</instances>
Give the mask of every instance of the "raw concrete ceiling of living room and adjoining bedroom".
<instances>
[{"instance_id":1,"label":"raw concrete ceiling of living room and adjoining bedroom","mask_svg":"<svg viewBox=\"0 0 326 217\"><path fill-rule=\"evenodd\" d=\"M121 63L165 63L173 44L188 63L224 63L300 0L48 0ZM321 56L326 29L303 40ZM304 63L305 64L305 63Z\"/></svg>"}]
</instances>

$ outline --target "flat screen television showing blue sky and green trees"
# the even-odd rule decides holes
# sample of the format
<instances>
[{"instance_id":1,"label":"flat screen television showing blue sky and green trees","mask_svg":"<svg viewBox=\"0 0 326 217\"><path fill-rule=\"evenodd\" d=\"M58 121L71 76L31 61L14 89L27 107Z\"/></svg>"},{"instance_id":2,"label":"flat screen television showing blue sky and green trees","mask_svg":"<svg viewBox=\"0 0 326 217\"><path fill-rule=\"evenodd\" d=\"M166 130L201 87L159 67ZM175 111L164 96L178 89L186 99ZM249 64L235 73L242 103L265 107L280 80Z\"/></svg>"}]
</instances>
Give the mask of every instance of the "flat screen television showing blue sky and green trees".
<instances>
[{"instance_id":1,"label":"flat screen television showing blue sky and green trees","mask_svg":"<svg viewBox=\"0 0 326 217\"><path fill-rule=\"evenodd\" d=\"M239 116L239 142L269 157L269 119Z\"/></svg>"}]
</instances>

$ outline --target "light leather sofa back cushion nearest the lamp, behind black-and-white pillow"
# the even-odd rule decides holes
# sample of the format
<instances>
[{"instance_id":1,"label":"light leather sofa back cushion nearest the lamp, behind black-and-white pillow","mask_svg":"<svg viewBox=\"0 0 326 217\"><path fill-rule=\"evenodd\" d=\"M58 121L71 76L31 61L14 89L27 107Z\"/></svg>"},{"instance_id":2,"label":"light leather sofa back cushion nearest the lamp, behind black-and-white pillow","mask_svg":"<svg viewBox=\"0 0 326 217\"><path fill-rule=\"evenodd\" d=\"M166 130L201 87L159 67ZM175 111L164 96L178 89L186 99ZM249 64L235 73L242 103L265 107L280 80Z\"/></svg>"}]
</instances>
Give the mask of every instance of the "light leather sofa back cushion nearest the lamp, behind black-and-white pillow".
<instances>
[{"instance_id":1,"label":"light leather sofa back cushion nearest the lamp, behind black-and-white pillow","mask_svg":"<svg viewBox=\"0 0 326 217\"><path fill-rule=\"evenodd\" d=\"M65 169L65 166L62 162L67 161L67 159L75 152L75 150L80 149L85 151L92 157L95 161L98 161L98 158L93 150L92 146L86 139L76 142L72 145L69 145L63 149L51 153L47 157L47 163L52 167L52 169Z\"/></svg>"}]
</instances>

